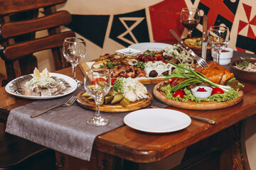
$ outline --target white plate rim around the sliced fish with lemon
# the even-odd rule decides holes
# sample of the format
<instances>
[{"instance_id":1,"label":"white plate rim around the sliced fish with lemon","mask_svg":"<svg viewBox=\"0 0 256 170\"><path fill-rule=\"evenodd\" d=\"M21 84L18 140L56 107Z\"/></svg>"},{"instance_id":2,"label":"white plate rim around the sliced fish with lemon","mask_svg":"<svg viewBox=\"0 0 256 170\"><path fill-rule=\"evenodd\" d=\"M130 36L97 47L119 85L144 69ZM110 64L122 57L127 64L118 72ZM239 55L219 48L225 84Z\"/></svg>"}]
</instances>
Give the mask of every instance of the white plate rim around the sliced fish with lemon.
<instances>
[{"instance_id":1,"label":"white plate rim around the sliced fish with lemon","mask_svg":"<svg viewBox=\"0 0 256 170\"><path fill-rule=\"evenodd\" d=\"M50 73L50 77L51 77L51 76L55 76L55 77L58 77L58 78L60 78L60 79L65 79L65 81L68 81L68 83L69 83L70 86L71 86L70 90L67 91L65 94L61 94L61 95L57 95L57 96L24 96L24 95L20 95L20 94L16 94L16 93L11 92L10 86L11 86L12 82L15 81L16 79L19 79L20 77L14 79L14 80L12 80L12 81L10 81L9 84L6 85L5 90L6 90L7 93L9 93L9 94L12 94L12 95L14 95L14 96L18 96L18 97L21 97L21 98L49 99L49 98L59 98L59 97L68 95L68 94L72 93L73 91L75 91L75 89L77 89L77 84L76 84L75 79L72 79L71 77L68 77L68 76L63 75L63 74L58 74L58 73Z\"/></svg>"}]
</instances>

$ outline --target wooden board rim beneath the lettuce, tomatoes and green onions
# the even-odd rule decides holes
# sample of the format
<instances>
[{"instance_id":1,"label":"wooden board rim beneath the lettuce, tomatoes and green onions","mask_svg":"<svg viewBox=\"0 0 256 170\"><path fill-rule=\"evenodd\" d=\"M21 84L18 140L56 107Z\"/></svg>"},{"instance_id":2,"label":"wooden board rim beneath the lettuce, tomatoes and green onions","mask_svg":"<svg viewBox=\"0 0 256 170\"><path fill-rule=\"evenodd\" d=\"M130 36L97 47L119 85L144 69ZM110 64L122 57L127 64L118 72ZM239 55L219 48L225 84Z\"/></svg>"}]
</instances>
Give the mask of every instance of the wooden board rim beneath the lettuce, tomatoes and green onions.
<instances>
[{"instance_id":1,"label":"wooden board rim beneath the lettuce, tomatoes and green onions","mask_svg":"<svg viewBox=\"0 0 256 170\"><path fill-rule=\"evenodd\" d=\"M162 81L164 82L164 81ZM157 90L157 87L162 83L156 84L153 89L154 96L159 99L159 101L168 104L169 106L174 106L176 108L185 108L190 110L215 110L220 108L228 108L230 106L234 106L235 104L242 101L244 96L242 91L239 91L238 98L232 101L225 102L217 102L217 101L201 101L201 103L196 103L195 101L173 101L171 99L166 98L164 94L161 94L160 91Z\"/></svg>"}]
</instances>

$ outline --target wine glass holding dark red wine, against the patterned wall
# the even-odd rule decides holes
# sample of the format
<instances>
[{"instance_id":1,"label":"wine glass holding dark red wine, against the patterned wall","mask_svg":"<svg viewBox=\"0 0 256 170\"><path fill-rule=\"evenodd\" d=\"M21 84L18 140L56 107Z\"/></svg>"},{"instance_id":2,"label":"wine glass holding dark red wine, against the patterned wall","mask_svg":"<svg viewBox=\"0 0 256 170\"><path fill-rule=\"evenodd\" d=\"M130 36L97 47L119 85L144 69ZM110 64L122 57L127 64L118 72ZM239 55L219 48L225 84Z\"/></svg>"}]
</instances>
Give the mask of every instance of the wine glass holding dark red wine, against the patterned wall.
<instances>
[{"instance_id":1,"label":"wine glass holding dark red wine, against the patterned wall","mask_svg":"<svg viewBox=\"0 0 256 170\"><path fill-rule=\"evenodd\" d=\"M198 8L182 8L181 23L188 29L188 37L191 38L192 30L200 22L200 12Z\"/></svg>"}]
</instances>

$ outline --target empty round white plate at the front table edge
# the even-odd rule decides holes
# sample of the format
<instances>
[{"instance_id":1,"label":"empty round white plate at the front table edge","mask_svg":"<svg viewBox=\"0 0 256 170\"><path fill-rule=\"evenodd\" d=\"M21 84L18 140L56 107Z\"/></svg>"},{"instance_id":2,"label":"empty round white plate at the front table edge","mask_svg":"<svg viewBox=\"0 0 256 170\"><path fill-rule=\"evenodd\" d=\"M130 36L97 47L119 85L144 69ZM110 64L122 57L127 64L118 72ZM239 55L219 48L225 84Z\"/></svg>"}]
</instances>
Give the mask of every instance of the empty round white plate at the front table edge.
<instances>
[{"instance_id":1,"label":"empty round white plate at the front table edge","mask_svg":"<svg viewBox=\"0 0 256 170\"><path fill-rule=\"evenodd\" d=\"M124 123L143 132L164 133L188 127L191 118L185 113L171 109L146 108L127 114Z\"/></svg>"}]
</instances>

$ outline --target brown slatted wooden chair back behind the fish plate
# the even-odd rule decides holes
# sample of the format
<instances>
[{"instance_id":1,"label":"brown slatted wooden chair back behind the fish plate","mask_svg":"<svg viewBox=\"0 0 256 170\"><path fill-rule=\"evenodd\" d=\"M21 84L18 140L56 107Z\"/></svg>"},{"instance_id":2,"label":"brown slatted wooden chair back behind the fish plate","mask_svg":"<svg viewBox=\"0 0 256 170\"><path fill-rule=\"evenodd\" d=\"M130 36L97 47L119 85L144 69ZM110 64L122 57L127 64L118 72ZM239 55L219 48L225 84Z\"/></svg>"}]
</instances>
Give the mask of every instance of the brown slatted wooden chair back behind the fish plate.
<instances>
[{"instance_id":1,"label":"brown slatted wooden chair back behind the fish plate","mask_svg":"<svg viewBox=\"0 0 256 170\"><path fill-rule=\"evenodd\" d=\"M63 57L62 45L65 38L74 37L75 33L61 32L60 26L70 23L72 16L68 11L56 10L56 4L65 1L0 0L0 55L7 74L3 86L16 77L33 72L37 67L34 52L51 49L55 70L69 66ZM44 16L38 18L40 11ZM48 35L36 38L36 33L41 30L47 30Z\"/></svg>"}]
</instances>

